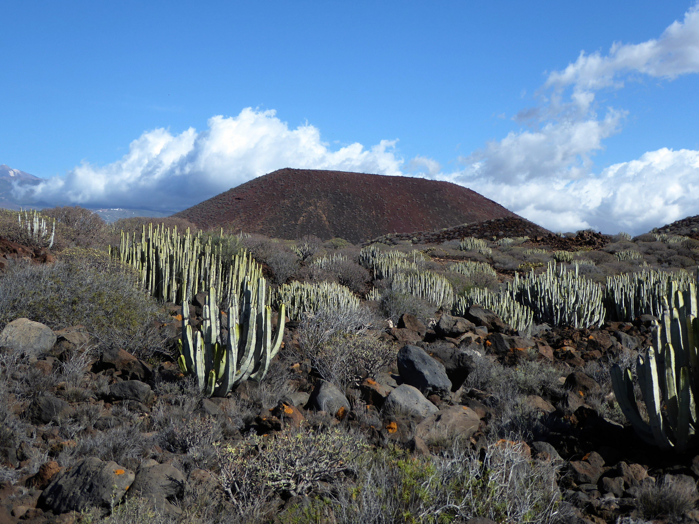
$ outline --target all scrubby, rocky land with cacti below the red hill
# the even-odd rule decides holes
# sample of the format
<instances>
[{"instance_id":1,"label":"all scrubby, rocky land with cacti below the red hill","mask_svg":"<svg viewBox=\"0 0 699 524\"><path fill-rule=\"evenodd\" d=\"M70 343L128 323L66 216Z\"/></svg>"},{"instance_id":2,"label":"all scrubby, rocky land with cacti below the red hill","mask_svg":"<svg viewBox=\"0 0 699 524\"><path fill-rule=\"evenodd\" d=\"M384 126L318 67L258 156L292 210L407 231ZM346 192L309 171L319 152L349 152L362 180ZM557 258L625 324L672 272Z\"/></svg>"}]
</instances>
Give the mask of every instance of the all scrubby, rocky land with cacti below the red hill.
<instances>
[{"instance_id":1,"label":"all scrubby, rocky land with cacti below the red hill","mask_svg":"<svg viewBox=\"0 0 699 524\"><path fill-rule=\"evenodd\" d=\"M0 212L0 521L694 522L685 233Z\"/></svg>"}]
</instances>

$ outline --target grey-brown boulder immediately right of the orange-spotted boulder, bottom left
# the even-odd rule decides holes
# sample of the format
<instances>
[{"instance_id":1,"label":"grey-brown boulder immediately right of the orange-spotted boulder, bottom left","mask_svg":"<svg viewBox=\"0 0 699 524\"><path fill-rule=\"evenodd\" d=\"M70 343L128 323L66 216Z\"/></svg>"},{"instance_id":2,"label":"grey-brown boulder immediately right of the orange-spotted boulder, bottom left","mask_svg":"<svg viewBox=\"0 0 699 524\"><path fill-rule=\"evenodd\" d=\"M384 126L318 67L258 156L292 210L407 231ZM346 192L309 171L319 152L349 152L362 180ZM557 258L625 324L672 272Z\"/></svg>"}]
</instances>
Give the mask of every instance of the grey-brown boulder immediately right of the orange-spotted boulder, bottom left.
<instances>
[{"instance_id":1,"label":"grey-brown boulder immediately right of the orange-spotted boulder, bottom left","mask_svg":"<svg viewBox=\"0 0 699 524\"><path fill-rule=\"evenodd\" d=\"M134 483L129 488L129 497L143 497L168 514L181 514L182 510L171 503L185 495L185 475L173 465L150 465L149 462L138 468Z\"/></svg>"}]
</instances>

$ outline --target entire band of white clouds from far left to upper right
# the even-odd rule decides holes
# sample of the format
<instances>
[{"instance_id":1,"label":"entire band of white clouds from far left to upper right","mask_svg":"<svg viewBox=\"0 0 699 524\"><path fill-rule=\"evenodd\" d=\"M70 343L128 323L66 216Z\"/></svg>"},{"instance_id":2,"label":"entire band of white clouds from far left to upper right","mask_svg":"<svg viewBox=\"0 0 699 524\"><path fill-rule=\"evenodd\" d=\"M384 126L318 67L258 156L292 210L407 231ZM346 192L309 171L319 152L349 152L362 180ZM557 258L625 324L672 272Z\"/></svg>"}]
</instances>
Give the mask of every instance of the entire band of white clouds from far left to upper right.
<instances>
[{"instance_id":1,"label":"entire band of white clouds from far left to upper right","mask_svg":"<svg viewBox=\"0 0 699 524\"><path fill-rule=\"evenodd\" d=\"M336 169L448 180L554 231L637 234L699 214L699 152L661 143L639 159L596 169L594 155L621 132L627 115L599 108L596 94L642 75L672 80L689 73L699 73L699 3L658 38L614 43L607 54L581 52L549 73L539 105L514 117L523 129L462 157L453 172L426 156L403 161L395 140L333 151L315 126L290 129L272 110L246 108L212 117L201 132L147 131L114 163L85 162L17 191L52 204L180 210L278 168Z\"/></svg>"}]
</instances>

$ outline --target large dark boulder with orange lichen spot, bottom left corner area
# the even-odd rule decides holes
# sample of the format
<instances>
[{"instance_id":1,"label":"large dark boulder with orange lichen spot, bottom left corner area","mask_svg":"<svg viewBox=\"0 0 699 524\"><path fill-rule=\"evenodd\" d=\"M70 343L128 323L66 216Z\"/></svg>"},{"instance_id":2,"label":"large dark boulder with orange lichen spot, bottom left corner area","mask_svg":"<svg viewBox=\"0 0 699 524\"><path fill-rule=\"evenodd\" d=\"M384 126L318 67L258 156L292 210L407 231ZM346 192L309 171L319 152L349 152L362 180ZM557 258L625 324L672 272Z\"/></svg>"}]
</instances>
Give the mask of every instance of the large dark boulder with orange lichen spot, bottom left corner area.
<instances>
[{"instance_id":1,"label":"large dark boulder with orange lichen spot, bottom left corner area","mask_svg":"<svg viewBox=\"0 0 699 524\"><path fill-rule=\"evenodd\" d=\"M112 460L84 458L55 477L41 492L36 507L56 514L110 508L122 500L134 477L134 472Z\"/></svg>"}]
</instances>

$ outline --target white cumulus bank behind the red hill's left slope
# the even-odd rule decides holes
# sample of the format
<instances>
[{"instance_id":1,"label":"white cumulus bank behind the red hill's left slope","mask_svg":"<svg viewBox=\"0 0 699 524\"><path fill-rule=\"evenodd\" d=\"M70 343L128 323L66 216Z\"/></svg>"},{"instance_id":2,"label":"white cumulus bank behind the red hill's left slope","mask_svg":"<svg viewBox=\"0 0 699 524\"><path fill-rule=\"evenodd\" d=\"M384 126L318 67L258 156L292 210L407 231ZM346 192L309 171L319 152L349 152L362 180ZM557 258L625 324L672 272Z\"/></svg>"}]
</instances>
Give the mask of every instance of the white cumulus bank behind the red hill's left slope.
<instances>
[{"instance_id":1,"label":"white cumulus bank behind the red hill's left slope","mask_svg":"<svg viewBox=\"0 0 699 524\"><path fill-rule=\"evenodd\" d=\"M395 140L365 149L359 143L337 151L310 124L289 129L275 111L243 109L215 116L208 129L178 135L166 129L143 133L122 159L107 166L83 162L65 176L15 194L52 204L180 210L254 177L285 167L401 175Z\"/></svg>"}]
</instances>

